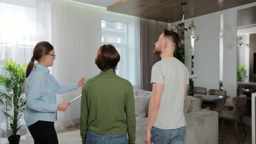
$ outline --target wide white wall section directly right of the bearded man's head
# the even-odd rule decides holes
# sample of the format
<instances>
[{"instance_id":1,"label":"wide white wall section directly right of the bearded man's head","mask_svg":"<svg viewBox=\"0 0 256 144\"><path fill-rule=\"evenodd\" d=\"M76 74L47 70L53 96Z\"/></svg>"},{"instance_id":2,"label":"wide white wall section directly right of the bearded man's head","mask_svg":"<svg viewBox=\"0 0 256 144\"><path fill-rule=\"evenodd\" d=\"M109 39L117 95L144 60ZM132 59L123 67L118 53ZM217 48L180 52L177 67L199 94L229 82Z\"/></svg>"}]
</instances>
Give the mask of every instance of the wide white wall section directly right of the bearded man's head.
<instances>
[{"instance_id":1,"label":"wide white wall section directly right of the bearded man's head","mask_svg":"<svg viewBox=\"0 0 256 144\"><path fill-rule=\"evenodd\" d=\"M197 75L194 86L207 89L219 88L219 15L208 14L184 20L185 27L194 21L195 41L194 49L194 74ZM174 24L180 23L175 22ZM185 65L191 74L191 40L185 38Z\"/></svg>"}]
</instances>

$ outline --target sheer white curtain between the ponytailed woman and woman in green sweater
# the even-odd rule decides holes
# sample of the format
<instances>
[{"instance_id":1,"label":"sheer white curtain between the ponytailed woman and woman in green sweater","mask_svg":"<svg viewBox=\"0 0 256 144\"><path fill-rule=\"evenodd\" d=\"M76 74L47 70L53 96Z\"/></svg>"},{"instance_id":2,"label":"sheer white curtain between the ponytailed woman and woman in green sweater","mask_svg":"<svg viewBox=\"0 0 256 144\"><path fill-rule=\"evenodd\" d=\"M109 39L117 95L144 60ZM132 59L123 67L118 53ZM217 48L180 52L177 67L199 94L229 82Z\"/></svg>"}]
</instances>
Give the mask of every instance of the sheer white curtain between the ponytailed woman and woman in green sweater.
<instances>
[{"instance_id":1,"label":"sheer white curtain between the ponytailed woman and woman in green sweater","mask_svg":"<svg viewBox=\"0 0 256 144\"><path fill-rule=\"evenodd\" d=\"M70 1L53 2L52 29L56 60L53 74L60 83L77 82L98 73L94 57L101 45L101 10ZM80 95L82 88L57 95L58 103ZM55 127L63 129L80 121L80 99L66 112L58 112Z\"/></svg>"}]
</instances>

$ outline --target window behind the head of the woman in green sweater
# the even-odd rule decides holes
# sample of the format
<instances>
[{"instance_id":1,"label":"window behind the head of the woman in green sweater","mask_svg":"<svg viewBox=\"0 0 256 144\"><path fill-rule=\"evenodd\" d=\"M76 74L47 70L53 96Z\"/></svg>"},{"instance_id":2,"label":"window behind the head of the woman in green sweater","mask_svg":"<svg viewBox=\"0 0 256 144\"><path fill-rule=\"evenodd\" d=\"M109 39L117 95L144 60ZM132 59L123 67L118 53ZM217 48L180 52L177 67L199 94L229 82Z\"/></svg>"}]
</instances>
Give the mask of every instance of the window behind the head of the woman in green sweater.
<instances>
[{"instance_id":1,"label":"window behind the head of the woman in green sweater","mask_svg":"<svg viewBox=\"0 0 256 144\"><path fill-rule=\"evenodd\" d=\"M134 88L141 88L139 18L110 14L101 21L101 43L112 44L120 61L117 75L129 80Z\"/></svg>"}]
</instances>

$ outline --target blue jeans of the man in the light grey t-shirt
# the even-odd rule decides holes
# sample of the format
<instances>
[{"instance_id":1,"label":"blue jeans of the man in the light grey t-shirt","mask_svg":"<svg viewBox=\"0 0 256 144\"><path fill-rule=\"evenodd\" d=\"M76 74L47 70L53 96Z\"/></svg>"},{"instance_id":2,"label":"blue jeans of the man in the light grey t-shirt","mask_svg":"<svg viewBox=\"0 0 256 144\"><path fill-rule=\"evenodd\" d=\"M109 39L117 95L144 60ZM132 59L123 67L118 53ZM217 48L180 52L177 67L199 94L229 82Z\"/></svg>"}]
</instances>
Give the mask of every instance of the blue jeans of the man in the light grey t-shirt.
<instances>
[{"instance_id":1,"label":"blue jeans of the man in the light grey t-shirt","mask_svg":"<svg viewBox=\"0 0 256 144\"><path fill-rule=\"evenodd\" d=\"M186 137L186 127L178 129L151 129L151 142L154 144L184 144Z\"/></svg>"}]
</instances>

